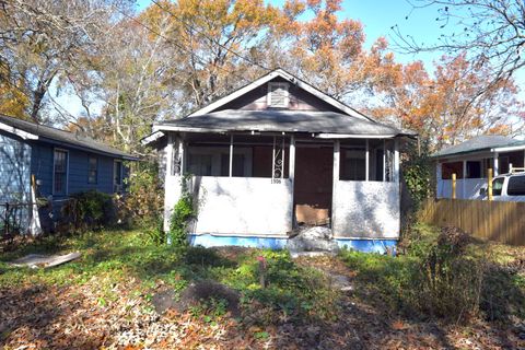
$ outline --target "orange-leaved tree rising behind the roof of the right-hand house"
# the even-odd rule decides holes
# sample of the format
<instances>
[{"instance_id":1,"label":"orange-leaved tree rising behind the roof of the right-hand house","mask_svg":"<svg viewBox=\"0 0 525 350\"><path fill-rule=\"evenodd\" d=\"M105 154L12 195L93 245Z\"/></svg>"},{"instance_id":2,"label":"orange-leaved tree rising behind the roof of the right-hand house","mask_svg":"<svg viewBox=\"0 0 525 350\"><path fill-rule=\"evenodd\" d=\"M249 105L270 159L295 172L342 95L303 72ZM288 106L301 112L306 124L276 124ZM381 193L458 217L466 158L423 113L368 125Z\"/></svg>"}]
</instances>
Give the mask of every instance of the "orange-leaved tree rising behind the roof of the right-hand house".
<instances>
[{"instance_id":1,"label":"orange-leaved tree rising behind the roof of the right-hand house","mask_svg":"<svg viewBox=\"0 0 525 350\"><path fill-rule=\"evenodd\" d=\"M397 79L385 85L384 106L372 110L418 131L432 149L480 133L512 135L524 124L524 105L512 80L485 86L490 70L474 71L465 55L443 57L431 78L422 62L399 66ZM482 93L480 93L482 92Z\"/></svg>"}]
</instances>

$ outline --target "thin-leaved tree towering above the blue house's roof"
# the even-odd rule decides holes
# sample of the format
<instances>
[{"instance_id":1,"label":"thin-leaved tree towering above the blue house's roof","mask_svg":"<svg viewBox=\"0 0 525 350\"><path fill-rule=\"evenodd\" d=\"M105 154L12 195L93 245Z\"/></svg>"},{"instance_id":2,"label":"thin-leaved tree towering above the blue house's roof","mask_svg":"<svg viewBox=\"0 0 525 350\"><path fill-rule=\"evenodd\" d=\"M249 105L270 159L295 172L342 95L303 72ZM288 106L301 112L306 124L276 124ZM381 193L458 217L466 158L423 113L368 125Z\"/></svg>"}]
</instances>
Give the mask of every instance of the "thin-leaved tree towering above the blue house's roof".
<instances>
[{"instance_id":1,"label":"thin-leaved tree towering above the blue house's roof","mask_svg":"<svg viewBox=\"0 0 525 350\"><path fill-rule=\"evenodd\" d=\"M118 0L10 0L0 7L2 83L16 89L15 114L36 122L49 103L49 90L59 79L81 74L95 54L93 37L106 32ZM11 89L10 88L10 89Z\"/></svg>"}]
</instances>

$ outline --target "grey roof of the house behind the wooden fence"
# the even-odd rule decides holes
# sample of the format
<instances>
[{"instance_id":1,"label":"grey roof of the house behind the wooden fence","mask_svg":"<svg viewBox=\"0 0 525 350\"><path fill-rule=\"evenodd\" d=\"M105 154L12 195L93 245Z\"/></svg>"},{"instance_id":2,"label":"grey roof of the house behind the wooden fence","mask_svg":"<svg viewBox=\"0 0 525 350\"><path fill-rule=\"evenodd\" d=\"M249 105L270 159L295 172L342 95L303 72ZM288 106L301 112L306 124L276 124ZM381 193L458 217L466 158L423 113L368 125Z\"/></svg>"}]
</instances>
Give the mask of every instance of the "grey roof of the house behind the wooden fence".
<instances>
[{"instance_id":1,"label":"grey roof of the house behind the wooden fence","mask_svg":"<svg viewBox=\"0 0 525 350\"><path fill-rule=\"evenodd\" d=\"M459 155L464 153L474 153L481 151L505 152L513 149L525 149L525 141L512 139L500 135L481 135L474 137L459 144L451 145L439 152L433 158L445 158L451 155Z\"/></svg>"}]
</instances>

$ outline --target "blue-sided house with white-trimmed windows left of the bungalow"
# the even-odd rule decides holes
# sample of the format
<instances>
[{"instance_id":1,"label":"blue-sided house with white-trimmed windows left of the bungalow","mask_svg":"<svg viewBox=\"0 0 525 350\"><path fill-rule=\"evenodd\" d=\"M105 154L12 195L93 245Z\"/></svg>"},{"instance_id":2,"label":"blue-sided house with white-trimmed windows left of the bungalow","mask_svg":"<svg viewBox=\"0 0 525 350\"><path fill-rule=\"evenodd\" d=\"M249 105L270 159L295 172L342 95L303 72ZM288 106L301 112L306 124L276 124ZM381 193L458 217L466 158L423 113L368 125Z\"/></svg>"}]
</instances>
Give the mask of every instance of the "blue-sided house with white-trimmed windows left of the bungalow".
<instances>
[{"instance_id":1,"label":"blue-sided house with white-trimmed windows left of the bungalow","mask_svg":"<svg viewBox=\"0 0 525 350\"><path fill-rule=\"evenodd\" d=\"M127 176L122 162L135 160L73 132L0 115L0 218L11 217L1 222L14 221L35 233L36 197L50 199L56 219L72 194L121 191Z\"/></svg>"}]
</instances>

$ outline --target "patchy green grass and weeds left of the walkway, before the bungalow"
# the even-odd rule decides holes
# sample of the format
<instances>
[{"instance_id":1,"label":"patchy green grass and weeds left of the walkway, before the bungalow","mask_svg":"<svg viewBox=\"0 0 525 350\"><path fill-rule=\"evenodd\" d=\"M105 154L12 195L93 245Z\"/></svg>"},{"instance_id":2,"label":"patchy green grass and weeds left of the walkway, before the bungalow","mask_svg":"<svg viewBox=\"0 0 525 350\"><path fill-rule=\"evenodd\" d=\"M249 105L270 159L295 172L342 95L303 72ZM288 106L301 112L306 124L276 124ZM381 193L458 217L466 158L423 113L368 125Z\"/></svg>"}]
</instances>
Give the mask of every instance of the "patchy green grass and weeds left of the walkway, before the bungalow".
<instances>
[{"instance_id":1,"label":"patchy green grass and weeds left of the walkway, before the bungalow","mask_svg":"<svg viewBox=\"0 0 525 350\"><path fill-rule=\"evenodd\" d=\"M8 264L31 253L74 250L82 253L79 260L49 269ZM259 284L257 256L264 256L267 261L266 288ZM334 292L324 283L323 275L295 265L288 252L240 249L235 256L225 257L202 247L154 245L148 242L141 230L106 230L62 240L46 237L4 254L0 258L0 288L83 284L96 278L101 291L108 291L115 283L133 279L137 293L150 299L159 285L179 292L190 281L214 280L238 291L245 305L258 304L268 314L278 312L287 317L330 318L336 310ZM102 294L101 303L115 298L110 293ZM314 313L314 310L319 312Z\"/></svg>"}]
</instances>

